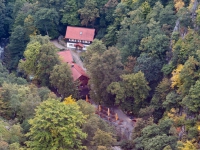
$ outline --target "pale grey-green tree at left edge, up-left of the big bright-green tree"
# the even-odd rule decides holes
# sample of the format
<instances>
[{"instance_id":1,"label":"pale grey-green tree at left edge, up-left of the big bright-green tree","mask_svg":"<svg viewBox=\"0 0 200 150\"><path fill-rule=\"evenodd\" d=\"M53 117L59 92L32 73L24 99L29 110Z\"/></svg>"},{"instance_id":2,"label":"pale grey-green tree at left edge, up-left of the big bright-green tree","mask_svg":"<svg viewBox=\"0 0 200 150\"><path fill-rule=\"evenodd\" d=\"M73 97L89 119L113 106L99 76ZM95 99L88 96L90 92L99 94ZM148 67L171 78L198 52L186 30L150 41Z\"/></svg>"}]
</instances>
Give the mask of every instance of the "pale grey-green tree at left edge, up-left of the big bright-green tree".
<instances>
[{"instance_id":1,"label":"pale grey-green tree at left edge, up-left of the big bright-green tree","mask_svg":"<svg viewBox=\"0 0 200 150\"><path fill-rule=\"evenodd\" d=\"M9 109L6 110L8 118L17 117L20 121L32 117L35 108L40 104L41 98L34 85L17 85L4 83L1 97L7 102Z\"/></svg>"}]
</instances>

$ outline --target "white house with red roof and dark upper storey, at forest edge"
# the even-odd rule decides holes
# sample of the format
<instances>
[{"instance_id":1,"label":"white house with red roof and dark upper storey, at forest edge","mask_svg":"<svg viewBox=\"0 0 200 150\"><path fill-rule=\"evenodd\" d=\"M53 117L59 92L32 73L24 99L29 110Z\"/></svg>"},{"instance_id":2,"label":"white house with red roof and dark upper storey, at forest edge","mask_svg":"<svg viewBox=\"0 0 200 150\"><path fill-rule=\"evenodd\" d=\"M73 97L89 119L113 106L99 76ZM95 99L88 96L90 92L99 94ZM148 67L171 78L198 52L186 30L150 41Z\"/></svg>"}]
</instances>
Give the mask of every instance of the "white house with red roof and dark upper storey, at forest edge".
<instances>
[{"instance_id":1,"label":"white house with red roof and dark upper storey, at forest edge","mask_svg":"<svg viewBox=\"0 0 200 150\"><path fill-rule=\"evenodd\" d=\"M94 40L95 29L67 26L65 39L67 47L86 50Z\"/></svg>"}]
</instances>

